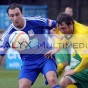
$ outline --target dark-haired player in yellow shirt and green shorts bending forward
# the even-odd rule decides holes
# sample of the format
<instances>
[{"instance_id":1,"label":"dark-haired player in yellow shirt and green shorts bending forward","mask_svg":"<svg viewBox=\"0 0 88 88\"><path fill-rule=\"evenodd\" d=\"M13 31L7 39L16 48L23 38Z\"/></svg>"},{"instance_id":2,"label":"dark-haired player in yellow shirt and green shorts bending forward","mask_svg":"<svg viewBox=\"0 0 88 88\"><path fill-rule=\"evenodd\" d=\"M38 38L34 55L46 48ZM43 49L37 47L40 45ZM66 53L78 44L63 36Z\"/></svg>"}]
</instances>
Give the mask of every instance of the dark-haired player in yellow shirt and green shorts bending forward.
<instances>
[{"instance_id":1,"label":"dark-haired player in yellow shirt and green shorts bending forward","mask_svg":"<svg viewBox=\"0 0 88 88\"><path fill-rule=\"evenodd\" d=\"M88 27L73 20L65 13L60 13L57 17L57 28L64 34L62 43L72 43L72 47L79 56L74 53L75 59L80 63L73 69L64 73L60 85L63 88L88 88ZM64 46L66 47L66 45ZM64 47L59 47L64 48Z\"/></svg>"}]
</instances>

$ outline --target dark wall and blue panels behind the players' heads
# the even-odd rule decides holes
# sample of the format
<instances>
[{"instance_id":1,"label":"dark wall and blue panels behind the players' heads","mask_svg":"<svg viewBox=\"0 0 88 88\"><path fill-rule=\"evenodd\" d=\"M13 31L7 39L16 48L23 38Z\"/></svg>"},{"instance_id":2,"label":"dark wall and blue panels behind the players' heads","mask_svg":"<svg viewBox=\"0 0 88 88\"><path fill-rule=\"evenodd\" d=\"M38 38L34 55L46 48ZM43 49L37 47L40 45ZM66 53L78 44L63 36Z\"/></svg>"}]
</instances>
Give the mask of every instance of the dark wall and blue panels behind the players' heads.
<instances>
[{"instance_id":1,"label":"dark wall and blue panels behind the players' heads","mask_svg":"<svg viewBox=\"0 0 88 88\"><path fill-rule=\"evenodd\" d=\"M6 8L11 3L23 5L25 16L42 16L56 19L59 12L67 6L73 8L75 20L88 24L88 0L1 0L0 1L0 29L6 30L9 25Z\"/></svg>"}]
</instances>

